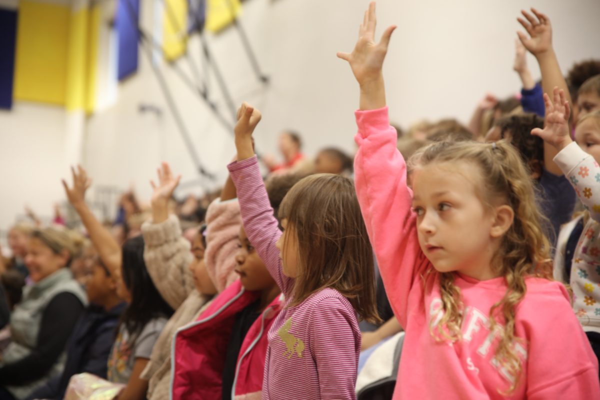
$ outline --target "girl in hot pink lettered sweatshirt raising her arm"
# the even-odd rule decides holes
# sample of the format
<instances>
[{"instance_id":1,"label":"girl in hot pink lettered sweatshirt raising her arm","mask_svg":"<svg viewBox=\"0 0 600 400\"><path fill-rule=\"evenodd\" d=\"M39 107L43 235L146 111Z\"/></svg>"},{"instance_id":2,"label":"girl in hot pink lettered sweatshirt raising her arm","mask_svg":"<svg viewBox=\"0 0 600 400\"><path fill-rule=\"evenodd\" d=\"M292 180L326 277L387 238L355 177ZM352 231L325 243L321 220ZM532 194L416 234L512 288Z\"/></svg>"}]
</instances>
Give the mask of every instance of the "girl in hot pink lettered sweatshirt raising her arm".
<instances>
[{"instance_id":1,"label":"girl in hot pink lettered sweatshirt raising her arm","mask_svg":"<svg viewBox=\"0 0 600 400\"><path fill-rule=\"evenodd\" d=\"M375 43L375 25L371 3L338 56L361 88L356 190L406 330L394 398L597 398L598 363L551 280L519 155L503 141L433 143L412 160L410 190L382 75L394 26Z\"/></svg>"}]
</instances>

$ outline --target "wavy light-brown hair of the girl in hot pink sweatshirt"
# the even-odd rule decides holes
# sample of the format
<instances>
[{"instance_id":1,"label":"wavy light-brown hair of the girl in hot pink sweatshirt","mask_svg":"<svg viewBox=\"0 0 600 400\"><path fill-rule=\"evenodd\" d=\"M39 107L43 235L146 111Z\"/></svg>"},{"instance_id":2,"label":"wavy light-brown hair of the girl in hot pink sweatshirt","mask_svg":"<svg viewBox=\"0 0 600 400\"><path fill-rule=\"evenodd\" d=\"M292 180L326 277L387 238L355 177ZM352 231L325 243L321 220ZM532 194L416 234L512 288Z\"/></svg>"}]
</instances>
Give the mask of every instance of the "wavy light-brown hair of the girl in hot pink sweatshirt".
<instances>
[{"instance_id":1,"label":"wavy light-brown hair of the girl in hot pink sweatshirt","mask_svg":"<svg viewBox=\"0 0 600 400\"><path fill-rule=\"evenodd\" d=\"M514 221L492 260L493 268L505 278L507 290L502 299L490 308L489 315L490 332L502 332L495 358L515 377L508 389L508 392L514 392L523 369L514 345L520 341L515 337L515 320L518 303L527 291L525 279L531 276L553 279L550 242L542 229L544 216L536 204L529 171L510 143L505 140L495 144L434 143L420 152L416 160L418 166L458 162L469 163L479 170L480 198L486 207L502 201L515 213ZM464 305L454 278L454 272L440 273L444 314L436 326L431 326L432 335L439 340L461 339ZM504 326L499 325L498 319Z\"/></svg>"}]
</instances>

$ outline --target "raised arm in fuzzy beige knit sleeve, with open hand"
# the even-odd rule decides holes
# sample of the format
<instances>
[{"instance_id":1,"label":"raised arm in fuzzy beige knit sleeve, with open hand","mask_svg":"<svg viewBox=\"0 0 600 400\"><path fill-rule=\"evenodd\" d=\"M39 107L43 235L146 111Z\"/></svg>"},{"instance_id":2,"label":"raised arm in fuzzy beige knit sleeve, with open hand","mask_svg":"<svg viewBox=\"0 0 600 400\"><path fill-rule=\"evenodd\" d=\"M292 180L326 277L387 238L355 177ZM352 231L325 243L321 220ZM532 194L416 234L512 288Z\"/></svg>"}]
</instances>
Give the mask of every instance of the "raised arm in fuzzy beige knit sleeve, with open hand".
<instances>
[{"instance_id":1,"label":"raised arm in fuzzy beige knit sleeve, with open hand","mask_svg":"<svg viewBox=\"0 0 600 400\"><path fill-rule=\"evenodd\" d=\"M175 215L169 216L169 200L181 176L174 176L169 164L157 170L158 183L151 181L152 221L142 225L144 261L152 282L161 296L177 309L194 289L194 277L188 266L193 255Z\"/></svg>"}]
</instances>

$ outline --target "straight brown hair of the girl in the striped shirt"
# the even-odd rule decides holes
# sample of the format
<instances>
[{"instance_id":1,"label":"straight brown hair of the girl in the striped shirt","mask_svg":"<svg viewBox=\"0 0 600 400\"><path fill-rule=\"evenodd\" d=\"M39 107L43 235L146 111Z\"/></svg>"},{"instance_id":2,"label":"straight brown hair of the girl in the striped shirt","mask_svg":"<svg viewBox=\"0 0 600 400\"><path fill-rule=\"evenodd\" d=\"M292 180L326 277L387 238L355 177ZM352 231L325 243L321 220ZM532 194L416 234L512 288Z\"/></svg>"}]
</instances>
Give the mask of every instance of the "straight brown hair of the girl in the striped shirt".
<instances>
[{"instance_id":1,"label":"straight brown hair of the girl in the striped shirt","mask_svg":"<svg viewBox=\"0 0 600 400\"><path fill-rule=\"evenodd\" d=\"M373 250L353 182L333 174L307 176L284 197L279 216L298 238L300 273L290 306L330 287L362 319L379 321Z\"/></svg>"}]
</instances>

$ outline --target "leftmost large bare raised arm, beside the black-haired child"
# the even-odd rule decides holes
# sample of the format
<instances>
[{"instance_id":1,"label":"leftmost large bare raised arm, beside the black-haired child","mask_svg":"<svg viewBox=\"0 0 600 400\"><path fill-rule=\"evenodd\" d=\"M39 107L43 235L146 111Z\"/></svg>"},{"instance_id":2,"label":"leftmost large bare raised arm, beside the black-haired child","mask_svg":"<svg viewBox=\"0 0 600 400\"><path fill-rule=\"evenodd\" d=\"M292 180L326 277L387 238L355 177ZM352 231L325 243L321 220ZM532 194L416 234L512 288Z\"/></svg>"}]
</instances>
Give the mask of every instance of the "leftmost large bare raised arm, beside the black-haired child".
<instances>
[{"instance_id":1,"label":"leftmost large bare raised arm, beside the black-haired child","mask_svg":"<svg viewBox=\"0 0 600 400\"><path fill-rule=\"evenodd\" d=\"M62 180L67 199L79 214L79 218L81 218L85 229L88 231L89 238L92 240L104 265L110 269L113 276L120 276L121 246L116 242L110 231L98 221L92 210L89 209L88 204L85 203L85 192L92 184L92 180L88 178L85 169L81 166L77 166L77 170L71 167L71 175L73 175L72 188L68 187L64 179Z\"/></svg>"}]
</instances>

